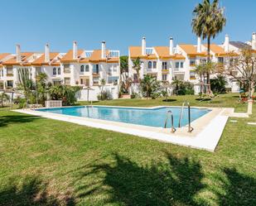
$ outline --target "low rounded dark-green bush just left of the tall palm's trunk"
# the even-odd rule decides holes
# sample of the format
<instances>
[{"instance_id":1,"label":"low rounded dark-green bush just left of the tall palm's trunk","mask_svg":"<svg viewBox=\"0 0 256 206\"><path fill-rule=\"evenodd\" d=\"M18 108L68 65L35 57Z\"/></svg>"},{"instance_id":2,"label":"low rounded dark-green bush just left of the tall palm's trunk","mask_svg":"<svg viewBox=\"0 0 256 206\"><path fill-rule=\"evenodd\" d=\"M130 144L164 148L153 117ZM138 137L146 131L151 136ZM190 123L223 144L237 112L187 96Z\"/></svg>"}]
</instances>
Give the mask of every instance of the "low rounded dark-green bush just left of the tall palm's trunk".
<instances>
[{"instance_id":1,"label":"low rounded dark-green bush just left of the tall palm's trunk","mask_svg":"<svg viewBox=\"0 0 256 206\"><path fill-rule=\"evenodd\" d=\"M176 95L194 94L194 84L189 81L182 81L180 79L174 80L171 85L173 86L173 93Z\"/></svg>"}]
</instances>

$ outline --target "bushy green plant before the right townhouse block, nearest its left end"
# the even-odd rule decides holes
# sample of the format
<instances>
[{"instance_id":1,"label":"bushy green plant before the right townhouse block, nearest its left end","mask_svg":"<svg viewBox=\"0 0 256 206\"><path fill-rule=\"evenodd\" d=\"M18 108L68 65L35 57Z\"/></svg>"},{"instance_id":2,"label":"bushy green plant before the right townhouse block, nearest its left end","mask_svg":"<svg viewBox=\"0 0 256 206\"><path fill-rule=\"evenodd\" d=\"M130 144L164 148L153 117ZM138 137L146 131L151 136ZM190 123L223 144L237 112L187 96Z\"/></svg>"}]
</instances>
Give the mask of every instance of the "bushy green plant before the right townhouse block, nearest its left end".
<instances>
[{"instance_id":1,"label":"bushy green plant before the right townhouse block, nearest its left end","mask_svg":"<svg viewBox=\"0 0 256 206\"><path fill-rule=\"evenodd\" d=\"M152 97L153 93L157 93L159 91L160 82L157 81L155 77L152 77L152 75L147 74L141 80L140 86L142 88L142 93L145 93L145 96L149 98Z\"/></svg>"}]
</instances>

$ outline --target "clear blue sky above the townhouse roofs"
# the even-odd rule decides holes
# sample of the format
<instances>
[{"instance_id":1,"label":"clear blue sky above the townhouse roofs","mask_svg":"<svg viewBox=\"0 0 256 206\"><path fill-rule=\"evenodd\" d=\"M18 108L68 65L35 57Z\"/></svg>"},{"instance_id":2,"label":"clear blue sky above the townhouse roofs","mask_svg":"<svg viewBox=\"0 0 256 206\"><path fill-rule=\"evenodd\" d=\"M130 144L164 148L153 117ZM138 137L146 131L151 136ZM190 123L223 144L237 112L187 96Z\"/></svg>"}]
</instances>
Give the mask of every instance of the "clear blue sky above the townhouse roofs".
<instances>
[{"instance_id":1,"label":"clear blue sky above the townhouse roofs","mask_svg":"<svg viewBox=\"0 0 256 206\"><path fill-rule=\"evenodd\" d=\"M106 41L107 48L128 54L128 46L167 46L169 36L176 43L195 43L191 32L192 10L200 0L0 0L0 52L66 52L72 41L80 48L93 50ZM255 0L220 0L225 7L227 25L215 38L248 41L256 31Z\"/></svg>"}]
</instances>

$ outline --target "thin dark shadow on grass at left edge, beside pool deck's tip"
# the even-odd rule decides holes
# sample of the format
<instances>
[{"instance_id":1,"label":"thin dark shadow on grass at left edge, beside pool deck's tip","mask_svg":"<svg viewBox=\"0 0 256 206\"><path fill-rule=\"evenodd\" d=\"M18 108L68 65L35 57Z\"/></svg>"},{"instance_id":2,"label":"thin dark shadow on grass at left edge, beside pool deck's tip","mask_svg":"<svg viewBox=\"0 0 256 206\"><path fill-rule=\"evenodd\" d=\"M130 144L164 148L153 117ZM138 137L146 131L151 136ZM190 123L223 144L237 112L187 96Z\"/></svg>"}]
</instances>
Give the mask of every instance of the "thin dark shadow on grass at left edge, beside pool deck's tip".
<instances>
[{"instance_id":1,"label":"thin dark shadow on grass at left edge, beside pool deck's tip","mask_svg":"<svg viewBox=\"0 0 256 206\"><path fill-rule=\"evenodd\" d=\"M0 127L7 126L10 123L25 123L32 122L38 119L36 116L29 115L6 115L0 116Z\"/></svg>"}]
</instances>

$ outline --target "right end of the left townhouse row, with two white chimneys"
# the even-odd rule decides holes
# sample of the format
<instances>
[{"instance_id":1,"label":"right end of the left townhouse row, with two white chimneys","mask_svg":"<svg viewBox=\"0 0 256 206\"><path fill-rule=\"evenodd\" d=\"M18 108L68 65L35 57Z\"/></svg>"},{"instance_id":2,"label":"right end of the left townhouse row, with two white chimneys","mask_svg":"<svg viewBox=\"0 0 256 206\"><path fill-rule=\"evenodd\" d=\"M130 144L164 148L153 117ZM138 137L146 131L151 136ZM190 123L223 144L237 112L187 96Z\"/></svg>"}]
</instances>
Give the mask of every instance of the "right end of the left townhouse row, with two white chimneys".
<instances>
[{"instance_id":1,"label":"right end of the left townhouse row, with two white chimneys","mask_svg":"<svg viewBox=\"0 0 256 206\"><path fill-rule=\"evenodd\" d=\"M69 50L60 60L60 80L66 85L83 87L79 99L97 100L101 89L101 79L105 80L104 90L109 91L112 98L118 98L120 78L119 50L107 50L102 41L101 50L78 50L74 41L73 50Z\"/></svg>"}]
</instances>

